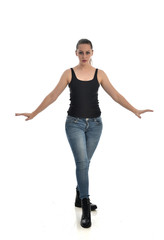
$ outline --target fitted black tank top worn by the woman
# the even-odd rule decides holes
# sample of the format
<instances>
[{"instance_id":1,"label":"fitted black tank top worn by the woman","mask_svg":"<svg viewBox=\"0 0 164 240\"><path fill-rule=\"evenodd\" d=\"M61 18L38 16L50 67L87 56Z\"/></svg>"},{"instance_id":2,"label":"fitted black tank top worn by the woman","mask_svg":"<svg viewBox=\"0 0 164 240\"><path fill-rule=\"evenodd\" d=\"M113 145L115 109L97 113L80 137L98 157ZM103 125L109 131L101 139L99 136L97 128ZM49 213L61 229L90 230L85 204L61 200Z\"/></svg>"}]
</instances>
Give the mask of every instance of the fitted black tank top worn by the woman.
<instances>
[{"instance_id":1,"label":"fitted black tank top worn by the woman","mask_svg":"<svg viewBox=\"0 0 164 240\"><path fill-rule=\"evenodd\" d=\"M67 111L72 117L95 118L101 115L98 101L99 82L97 80L96 68L94 78L89 81L77 79L73 68L70 88L70 107Z\"/></svg>"}]
</instances>

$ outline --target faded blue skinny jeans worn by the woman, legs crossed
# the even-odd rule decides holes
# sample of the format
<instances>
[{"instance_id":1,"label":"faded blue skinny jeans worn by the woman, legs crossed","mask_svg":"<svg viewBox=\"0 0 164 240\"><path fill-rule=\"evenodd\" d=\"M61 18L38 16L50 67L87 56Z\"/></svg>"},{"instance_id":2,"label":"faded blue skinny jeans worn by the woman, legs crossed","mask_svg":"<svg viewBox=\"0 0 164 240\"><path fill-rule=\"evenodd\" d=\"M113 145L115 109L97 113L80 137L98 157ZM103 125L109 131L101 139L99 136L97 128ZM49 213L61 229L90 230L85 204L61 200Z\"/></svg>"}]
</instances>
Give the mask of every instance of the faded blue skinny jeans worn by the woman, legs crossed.
<instances>
[{"instance_id":1,"label":"faded blue skinny jeans worn by the woman, legs crossed","mask_svg":"<svg viewBox=\"0 0 164 240\"><path fill-rule=\"evenodd\" d=\"M80 198L89 197L89 165L102 133L102 118L78 118L67 115L66 135L76 164Z\"/></svg>"}]
</instances>

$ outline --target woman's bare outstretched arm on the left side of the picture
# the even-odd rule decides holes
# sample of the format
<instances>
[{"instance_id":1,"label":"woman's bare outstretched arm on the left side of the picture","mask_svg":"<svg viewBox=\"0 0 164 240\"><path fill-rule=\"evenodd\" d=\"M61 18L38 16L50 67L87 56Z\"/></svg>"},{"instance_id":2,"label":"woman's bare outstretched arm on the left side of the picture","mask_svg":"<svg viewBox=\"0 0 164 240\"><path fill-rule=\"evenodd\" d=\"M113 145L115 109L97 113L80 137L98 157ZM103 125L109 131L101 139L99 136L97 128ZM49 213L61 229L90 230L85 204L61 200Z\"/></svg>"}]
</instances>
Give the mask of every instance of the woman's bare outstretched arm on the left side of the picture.
<instances>
[{"instance_id":1,"label":"woman's bare outstretched arm on the left side of the picture","mask_svg":"<svg viewBox=\"0 0 164 240\"><path fill-rule=\"evenodd\" d=\"M34 118L38 113L40 113L45 108L47 108L50 104L52 104L54 101L56 101L58 96L63 92L63 90L68 85L68 79L69 79L69 70L66 70L62 74L55 89L45 97L45 99L42 101L42 103L38 106L38 108L34 112L32 112L32 113L16 113L15 115L16 116L20 116L20 115L26 116L27 117L27 119L25 119L26 121Z\"/></svg>"}]
</instances>

